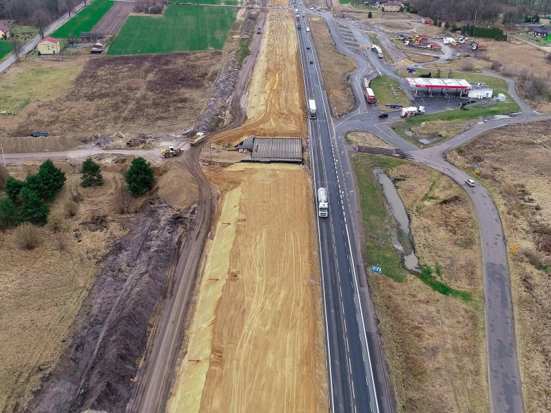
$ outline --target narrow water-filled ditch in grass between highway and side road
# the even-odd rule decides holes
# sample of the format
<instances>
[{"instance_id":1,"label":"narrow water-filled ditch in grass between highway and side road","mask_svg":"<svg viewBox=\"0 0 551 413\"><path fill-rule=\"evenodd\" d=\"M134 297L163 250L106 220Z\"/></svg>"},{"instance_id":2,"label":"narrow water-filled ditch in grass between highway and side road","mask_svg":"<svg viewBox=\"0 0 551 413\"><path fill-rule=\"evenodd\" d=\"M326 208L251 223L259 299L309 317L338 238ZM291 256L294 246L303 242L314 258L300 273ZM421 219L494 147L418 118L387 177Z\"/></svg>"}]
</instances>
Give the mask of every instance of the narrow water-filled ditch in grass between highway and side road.
<instances>
[{"instance_id":1,"label":"narrow water-filled ditch in grass between highway and side road","mask_svg":"<svg viewBox=\"0 0 551 413\"><path fill-rule=\"evenodd\" d=\"M406 268L418 273L420 272L419 260L417 260L413 248L413 240L409 231L409 218L406 207L404 207L404 202L400 199L391 178L388 178L382 169L374 169L373 173L375 173L382 184L384 198L386 198L386 203L391 209L392 216L398 226L397 240L393 242L394 247L402 255Z\"/></svg>"}]
</instances>

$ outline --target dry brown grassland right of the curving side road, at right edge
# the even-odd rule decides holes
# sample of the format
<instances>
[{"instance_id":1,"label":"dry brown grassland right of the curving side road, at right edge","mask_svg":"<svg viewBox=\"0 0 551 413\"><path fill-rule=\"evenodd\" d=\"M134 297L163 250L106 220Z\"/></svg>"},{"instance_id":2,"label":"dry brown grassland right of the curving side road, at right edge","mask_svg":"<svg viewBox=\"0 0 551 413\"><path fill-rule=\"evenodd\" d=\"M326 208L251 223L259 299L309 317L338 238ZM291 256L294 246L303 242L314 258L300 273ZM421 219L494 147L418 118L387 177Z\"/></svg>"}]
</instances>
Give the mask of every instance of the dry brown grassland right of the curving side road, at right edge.
<instances>
[{"instance_id":1,"label":"dry brown grassland right of the curving side road, at right edge","mask_svg":"<svg viewBox=\"0 0 551 413\"><path fill-rule=\"evenodd\" d=\"M509 253L526 412L551 411L551 122L486 132L448 158L472 171L499 207ZM530 162L527 167L526 162Z\"/></svg>"}]
</instances>

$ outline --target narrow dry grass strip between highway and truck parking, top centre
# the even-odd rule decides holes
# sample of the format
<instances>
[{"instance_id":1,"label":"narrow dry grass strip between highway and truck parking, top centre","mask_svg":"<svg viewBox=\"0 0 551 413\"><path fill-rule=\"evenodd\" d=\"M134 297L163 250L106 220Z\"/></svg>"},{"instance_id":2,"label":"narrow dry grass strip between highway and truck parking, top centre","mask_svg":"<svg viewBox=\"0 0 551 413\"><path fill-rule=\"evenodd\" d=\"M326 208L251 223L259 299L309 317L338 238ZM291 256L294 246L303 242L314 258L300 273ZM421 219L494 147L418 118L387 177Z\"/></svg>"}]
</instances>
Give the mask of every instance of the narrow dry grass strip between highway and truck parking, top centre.
<instances>
[{"instance_id":1,"label":"narrow dry grass strip between highway and truck parking, top centre","mask_svg":"<svg viewBox=\"0 0 551 413\"><path fill-rule=\"evenodd\" d=\"M322 76L329 94L331 112L333 114L345 114L354 105L354 95L348 81L346 81L346 76L356 69L356 63L349 56L337 52L324 20L310 17L309 24L315 43L315 51L318 53L322 66Z\"/></svg>"}]
</instances>

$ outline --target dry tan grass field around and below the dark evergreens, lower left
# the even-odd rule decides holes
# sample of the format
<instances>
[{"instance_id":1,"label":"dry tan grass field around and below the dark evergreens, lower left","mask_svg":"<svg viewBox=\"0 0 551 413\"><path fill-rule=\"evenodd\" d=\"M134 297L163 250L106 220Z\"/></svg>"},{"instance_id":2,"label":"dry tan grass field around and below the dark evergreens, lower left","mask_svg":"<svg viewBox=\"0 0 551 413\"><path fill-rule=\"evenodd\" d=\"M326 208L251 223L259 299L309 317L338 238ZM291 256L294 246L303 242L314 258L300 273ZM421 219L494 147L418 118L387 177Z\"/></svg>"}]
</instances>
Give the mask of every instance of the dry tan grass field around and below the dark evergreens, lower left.
<instances>
[{"instance_id":1,"label":"dry tan grass field around and below the dark evergreens, lower left","mask_svg":"<svg viewBox=\"0 0 551 413\"><path fill-rule=\"evenodd\" d=\"M98 259L122 237L123 226L110 218L115 215L114 196L123 174L116 169L103 173L101 188L79 188L80 175L68 165L60 165L67 175L63 190L52 204L51 215L63 215L63 206L79 191L74 218L63 219L63 229L50 226L40 230L42 242L32 251L15 243L14 230L0 232L0 410L18 411L28 399L43 370L61 354L63 341L72 334L71 326L94 279L100 273ZM10 167L13 176L23 178L37 165ZM23 173L24 172L24 173ZM90 231L83 222L107 215L105 229ZM77 242L74 231L81 234ZM63 251L60 246L63 245Z\"/></svg>"}]
</instances>

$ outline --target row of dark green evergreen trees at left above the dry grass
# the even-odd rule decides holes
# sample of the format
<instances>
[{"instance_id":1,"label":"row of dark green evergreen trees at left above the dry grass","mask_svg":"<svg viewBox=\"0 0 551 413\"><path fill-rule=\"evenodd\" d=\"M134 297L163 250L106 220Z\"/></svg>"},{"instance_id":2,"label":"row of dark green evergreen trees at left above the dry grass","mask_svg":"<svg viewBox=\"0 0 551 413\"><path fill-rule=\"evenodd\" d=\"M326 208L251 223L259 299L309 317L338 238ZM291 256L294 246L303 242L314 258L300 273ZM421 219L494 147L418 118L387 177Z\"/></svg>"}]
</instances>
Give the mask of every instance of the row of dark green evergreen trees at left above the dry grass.
<instances>
[{"instance_id":1,"label":"row of dark green evergreen trees at left above the dry grass","mask_svg":"<svg viewBox=\"0 0 551 413\"><path fill-rule=\"evenodd\" d=\"M6 178L5 182L3 178ZM30 173L25 180L17 180L12 176L3 178L1 181L6 196L0 198L0 229L17 226L23 222L45 224L50 213L50 203L61 191L67 179L65 173L50 159L45 160L38 172ZM155 183L154 171L144 158L135 158L132 161L125 178L128 190L136 197L150 191ZM103 176L100 166L91 158L87 158L81 169L81 186L101 185Z\"/></svg>"}]
</instances>

